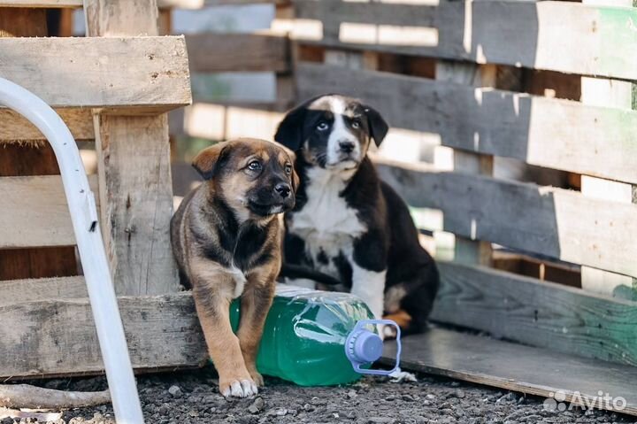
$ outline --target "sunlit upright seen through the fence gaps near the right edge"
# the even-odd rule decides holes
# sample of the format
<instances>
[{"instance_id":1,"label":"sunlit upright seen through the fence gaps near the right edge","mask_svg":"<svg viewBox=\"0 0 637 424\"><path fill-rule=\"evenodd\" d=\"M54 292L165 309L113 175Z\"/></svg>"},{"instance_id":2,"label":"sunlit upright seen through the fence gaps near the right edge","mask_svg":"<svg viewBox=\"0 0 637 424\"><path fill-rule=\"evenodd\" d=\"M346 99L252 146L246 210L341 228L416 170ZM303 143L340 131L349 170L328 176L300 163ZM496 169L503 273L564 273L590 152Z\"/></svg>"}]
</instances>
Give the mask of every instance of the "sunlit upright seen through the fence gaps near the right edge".
<instances>
[{"instance_id":1,"label":"sunlit upright seen through the fence gaps near the right edge","mask_svg":"<svg viewBox=\"0 0 637 424\"><path fill-rule=\"evenodd\" d=\"M582 3L615 7L633 7L634 5L633 0L583 0ZM634 83L630 81L582 77L581 102L595 106L636 109L637 96L635 96L634 87ZM582 175L581 191L589 197L637 204L637 197L634 195L637 192L637 185ZM587 291L629 299L634 299L637 295L635 291L637 279L626 275L582 266L581 281L582 289Z\"/></svg>"}]
</instances>

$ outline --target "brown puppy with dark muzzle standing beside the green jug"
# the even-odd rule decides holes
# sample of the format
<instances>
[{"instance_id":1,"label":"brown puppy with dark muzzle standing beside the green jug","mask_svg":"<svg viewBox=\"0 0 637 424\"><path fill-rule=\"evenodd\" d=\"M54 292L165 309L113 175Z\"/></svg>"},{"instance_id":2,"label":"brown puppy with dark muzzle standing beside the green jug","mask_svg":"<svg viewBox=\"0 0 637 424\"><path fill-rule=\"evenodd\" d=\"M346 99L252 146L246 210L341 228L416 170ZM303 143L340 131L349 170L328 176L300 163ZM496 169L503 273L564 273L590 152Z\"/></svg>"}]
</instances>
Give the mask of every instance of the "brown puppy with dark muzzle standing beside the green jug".
<instances>
[{"instance_id":1,"label":"brown puppy with dark muzzle standing beside the green jug","mask_svg":"<svg viewBox=\"0 0 637 424\"><path fill-rule=\"evenodd\" d=\"M197 315L224 396L257 394L258 344L281 265L278 213L295 204L294 154L275 143L239 139L202 150L193 162L203 184L171 221L181 279ZM230 303L242 297L234 335Z\"/></svg>"}]
</instances>

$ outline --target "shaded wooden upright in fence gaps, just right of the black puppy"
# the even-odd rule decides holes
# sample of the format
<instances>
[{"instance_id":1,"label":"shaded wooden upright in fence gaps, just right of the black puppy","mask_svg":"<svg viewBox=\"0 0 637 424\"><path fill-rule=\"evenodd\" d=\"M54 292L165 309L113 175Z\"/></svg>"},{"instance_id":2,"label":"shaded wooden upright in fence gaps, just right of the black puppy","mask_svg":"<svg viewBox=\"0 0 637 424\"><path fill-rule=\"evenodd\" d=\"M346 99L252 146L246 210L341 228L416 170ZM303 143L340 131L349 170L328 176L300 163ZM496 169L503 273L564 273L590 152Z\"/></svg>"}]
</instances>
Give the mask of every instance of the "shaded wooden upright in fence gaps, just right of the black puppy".
<instances>
[{"instance_id":1,"label":"shaded wooden upright in fence gaps, just right of the black puppy","mask_svg":"<svg viewBox=\"0 0 637 424\"><path fill-rule=\"evenodd\" d=\"M449 81L473 87L495 86L495 65L474 65L444 60L436 63L436 80ZM493 174L493 156L454 150L454 170L480 175ZM470 218L470 217L468 217ZM472 265L491 264L491 243L480 242L456 235L454 259Z\"/></svg>"}]
</instances>

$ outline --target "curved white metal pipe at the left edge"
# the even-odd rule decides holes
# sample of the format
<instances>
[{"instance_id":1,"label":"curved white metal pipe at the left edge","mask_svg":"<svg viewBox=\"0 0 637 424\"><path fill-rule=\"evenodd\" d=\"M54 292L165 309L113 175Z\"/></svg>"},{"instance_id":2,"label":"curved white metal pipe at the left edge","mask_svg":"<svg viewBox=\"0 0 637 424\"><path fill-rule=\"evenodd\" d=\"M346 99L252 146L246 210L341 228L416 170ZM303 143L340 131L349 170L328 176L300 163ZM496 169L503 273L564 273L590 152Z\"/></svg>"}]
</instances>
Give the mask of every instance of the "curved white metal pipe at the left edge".
<instances>
[{"instance_id":1,"label":"curved white metal pipe at the left edge","mask_svg":"<svg viewBox=\"0 0 637 424\"><path fill-rule=\"evenodd\" d=\"M87 281L115 418L119 424L142 424L142 407L97 223L95 197L88 187L73 135L58 113L40 97L4 78L0 78L0 104L30 120L55 151Z\"/></svg>"}]
</instances>

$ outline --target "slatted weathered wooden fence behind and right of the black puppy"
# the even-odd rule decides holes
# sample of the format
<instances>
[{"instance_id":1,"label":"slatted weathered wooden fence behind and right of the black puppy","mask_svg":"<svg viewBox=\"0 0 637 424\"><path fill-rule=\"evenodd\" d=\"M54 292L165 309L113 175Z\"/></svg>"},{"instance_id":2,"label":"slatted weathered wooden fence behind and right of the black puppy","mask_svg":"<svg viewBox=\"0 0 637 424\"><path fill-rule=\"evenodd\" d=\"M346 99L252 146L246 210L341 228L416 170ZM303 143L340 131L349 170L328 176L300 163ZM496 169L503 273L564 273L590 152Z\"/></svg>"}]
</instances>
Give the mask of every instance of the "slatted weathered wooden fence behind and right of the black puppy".
<instances>
[{"instance_id":1,"label":"slatted weathered wooden fence behind and right of the black puppy","mask_svg":"<svg viewBox=\"0 0 637 424\"><path fill-rule=\"evenodd\" d=\"M392 127L433 133L454 150L453 171L378 161L409 204L441 211L442 229L456 235L434 320L637 365L637 11L550 1L294 4L299 57L307 49L309 58L295 66L299 98L360 97ZM578 183L498 178L495 157ZM572 264L579 287L495 269L502 247Z\"/></svg>"}]
</instances>

